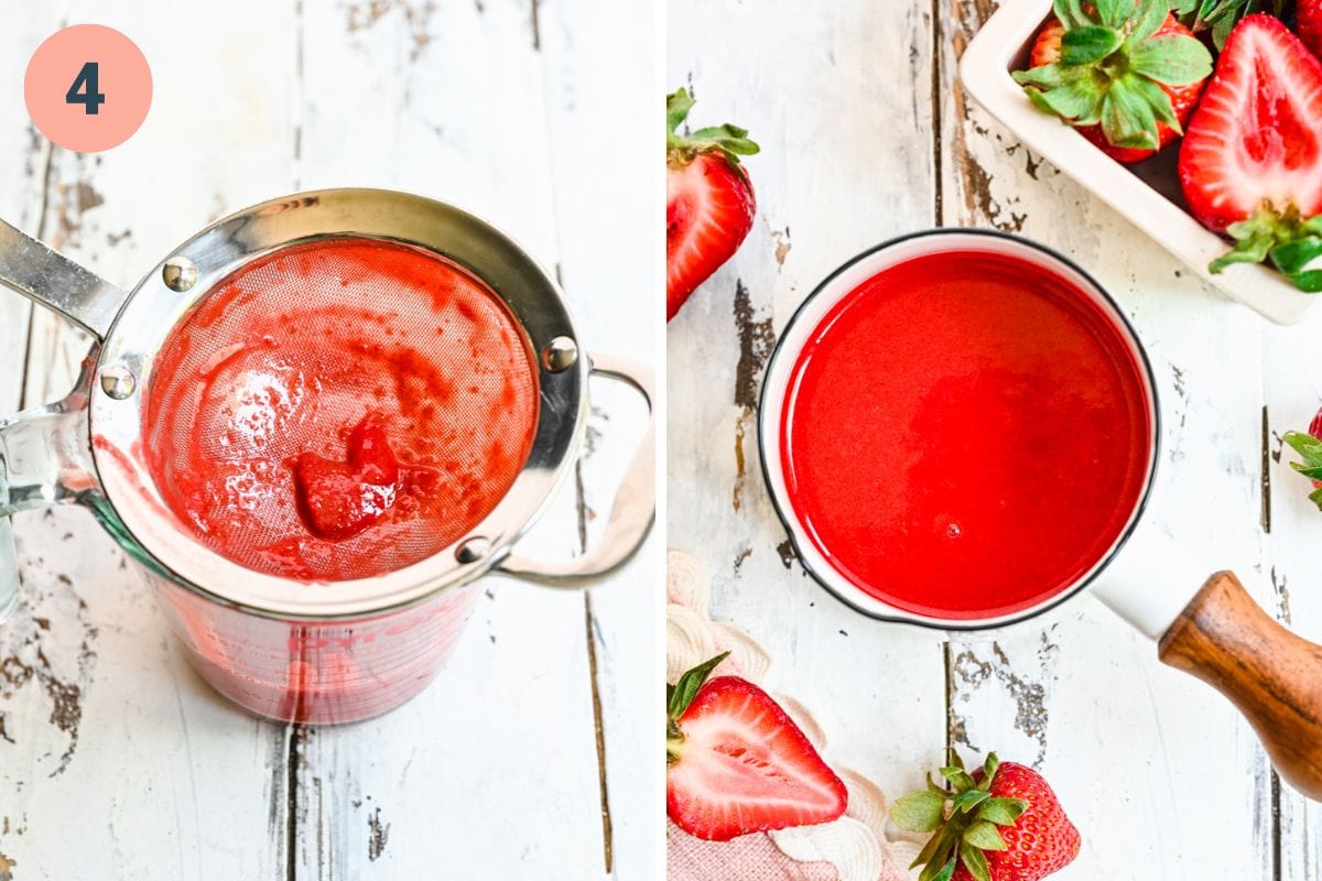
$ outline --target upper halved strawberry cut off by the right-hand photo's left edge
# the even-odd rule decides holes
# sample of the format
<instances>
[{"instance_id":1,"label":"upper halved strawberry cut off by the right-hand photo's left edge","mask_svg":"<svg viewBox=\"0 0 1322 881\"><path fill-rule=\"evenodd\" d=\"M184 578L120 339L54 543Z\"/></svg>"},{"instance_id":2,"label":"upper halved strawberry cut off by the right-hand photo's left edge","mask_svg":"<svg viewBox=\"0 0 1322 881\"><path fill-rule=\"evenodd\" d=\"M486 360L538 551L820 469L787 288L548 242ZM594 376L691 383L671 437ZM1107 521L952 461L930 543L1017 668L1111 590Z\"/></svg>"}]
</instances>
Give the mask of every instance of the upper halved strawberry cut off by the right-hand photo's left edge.
<instances>
[{"instance_id":1,"label":"upper halved strawberry cut off by the right-hand photo's left edge","mask_svg":"<svg viewBox=\"0 0 1322 881\"><path fill-rule=\"evenodd\" d=\"M691 135L676 129L693 99L683 88L666 98L665 317L734 256L752 229L756 199L739 156L758 145L748 132L726 123Z\"/></svg>"}]
</instances>

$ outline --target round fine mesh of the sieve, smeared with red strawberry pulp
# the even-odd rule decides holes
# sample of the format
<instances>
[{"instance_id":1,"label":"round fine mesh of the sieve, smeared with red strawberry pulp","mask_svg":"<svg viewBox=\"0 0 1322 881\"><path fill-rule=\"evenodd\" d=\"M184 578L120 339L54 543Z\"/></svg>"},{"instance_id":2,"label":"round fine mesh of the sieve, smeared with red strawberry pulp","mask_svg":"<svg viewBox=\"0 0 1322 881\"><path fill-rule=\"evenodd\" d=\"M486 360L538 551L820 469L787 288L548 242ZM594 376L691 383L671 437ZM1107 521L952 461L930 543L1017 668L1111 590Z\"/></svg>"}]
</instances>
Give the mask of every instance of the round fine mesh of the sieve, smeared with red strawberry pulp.
<instances>
[{"instance_id":1,"label":"round fine mesh of the sieve, smeared with red strawberry pulp","mask_svg":"<svg viewBox=\"0 0 1322 881\"><path fill-rule=\"evenodd\" d=\"M218 553L364 579L436 553L496 507L537 402L529 347L485 285L399 244L328 239L245 265L173 329L143 453Z\"/></svg>"}]
</instances>

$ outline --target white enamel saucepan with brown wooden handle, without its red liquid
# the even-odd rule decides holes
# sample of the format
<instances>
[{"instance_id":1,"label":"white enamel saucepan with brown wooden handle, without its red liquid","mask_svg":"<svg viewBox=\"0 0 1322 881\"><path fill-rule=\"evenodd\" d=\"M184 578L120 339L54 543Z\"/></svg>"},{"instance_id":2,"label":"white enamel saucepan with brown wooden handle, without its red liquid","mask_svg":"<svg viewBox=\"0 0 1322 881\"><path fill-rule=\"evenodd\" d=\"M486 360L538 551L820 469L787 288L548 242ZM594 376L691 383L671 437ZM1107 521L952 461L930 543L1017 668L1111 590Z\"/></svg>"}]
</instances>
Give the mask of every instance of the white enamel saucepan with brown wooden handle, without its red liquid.
<instances>
[{"instance_id":1,"label":"white enamel saucepan with brown wooden handle, without its red liquid","mask_svg":"<svg viewBox=\"0 0 1322 881\"><path fill-rule=\"evenodd\" d=\"M833 309L878 273L906 262L952 252L1022 262L1063 280L1112 325L1138 365L1146 392L1146 474L1128 520L1085 571L1029 608L988 617L902 609L865 590L822 552L797 512L788 486L783 425L796 365ZM1191 672L1229 697L1261 737L1281 777L1322 799L1322 647L1268 617L1231 572L1207 572L1145 518L1159 485L1161 405L1142 343L1110 296L1066 258L1022 238L982 230L936 230L884 243L833 272L804 301L767 367L759 412L763 473L772 502L804 568L839 601L879 621L944 631L985 630L1031 621L1083 590L1157 642L1162 662ZM903 427L898 427L903 429ZM842 479L847 479L842 476Z\"/></svg>"}]
</instances>

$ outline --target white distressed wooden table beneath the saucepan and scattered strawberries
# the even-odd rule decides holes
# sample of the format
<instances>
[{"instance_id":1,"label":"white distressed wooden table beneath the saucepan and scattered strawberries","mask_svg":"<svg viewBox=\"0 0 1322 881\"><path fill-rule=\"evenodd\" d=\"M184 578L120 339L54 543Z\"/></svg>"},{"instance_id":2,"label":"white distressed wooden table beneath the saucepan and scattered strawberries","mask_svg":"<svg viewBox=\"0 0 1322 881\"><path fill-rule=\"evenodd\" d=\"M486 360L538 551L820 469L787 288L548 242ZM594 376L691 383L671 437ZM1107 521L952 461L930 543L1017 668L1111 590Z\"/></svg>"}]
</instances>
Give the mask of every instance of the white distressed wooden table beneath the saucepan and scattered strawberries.
<instances>
[{"instance_id":1,"label":"white distressed wooden table beneath the saucepan and scattered strawberries","mask_svg":"<svg viewBox=\"0 0 1322 881\"><path fill-rule=\"evenodd\" d=\"M997 227L1088 267L1149 346L1174 424L1159 523L1322 641L1322 514L1280 454L1322 398L1322 312L1268 326L1039 161L956 83L993 0L672 0L669 75L731 120L759 214L668 333L668 543L713 571L714 616L771 650L771 684L832 756L899 794L947 745L1040 767L1083 831L1062 881L1317 881L1322 810L1280 785L1211 689L1095 600L945 641L836 602L789 553L761 482L756 391L776 335L833 268L940 226Z\"/></svg>"}]
</instances>

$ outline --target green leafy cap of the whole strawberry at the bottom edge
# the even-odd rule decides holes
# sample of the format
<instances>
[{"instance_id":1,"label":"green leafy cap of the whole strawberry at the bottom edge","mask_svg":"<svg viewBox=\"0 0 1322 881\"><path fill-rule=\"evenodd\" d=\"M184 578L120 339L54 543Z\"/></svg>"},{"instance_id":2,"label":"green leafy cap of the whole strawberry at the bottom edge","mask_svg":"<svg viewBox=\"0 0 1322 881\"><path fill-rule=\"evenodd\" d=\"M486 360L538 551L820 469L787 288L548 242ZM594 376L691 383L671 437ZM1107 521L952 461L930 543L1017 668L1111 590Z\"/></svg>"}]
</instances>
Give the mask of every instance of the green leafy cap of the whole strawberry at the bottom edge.
<instances>
[{"instance_id":1,"label":"green leafy cap of the whole strawberry at the bottom edge","mask_svg":"<svg viewBox=\"0 0 1322 881\"><path fill-rule=\"evenodd\" d=\"M1005 851L1006 843L997 827L1013 826L1029 810L1025 799L992 795L999 766L995 753L989 754L982 765L982 779L976 779L964 770L962 759L952 749L949 765L941 769L951 791L928 778L927 789L895 802L891 819L896 826L910 832L932 832L910 865L911 869L923 866L919 881L951 881L961 863L976 881L992 881L984 852Z\"/></svg>"}]
</instances>

